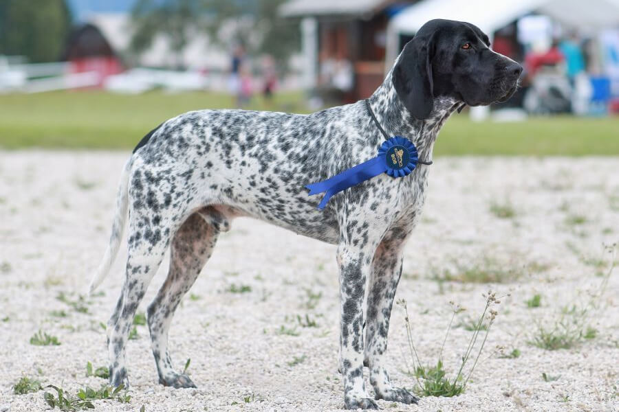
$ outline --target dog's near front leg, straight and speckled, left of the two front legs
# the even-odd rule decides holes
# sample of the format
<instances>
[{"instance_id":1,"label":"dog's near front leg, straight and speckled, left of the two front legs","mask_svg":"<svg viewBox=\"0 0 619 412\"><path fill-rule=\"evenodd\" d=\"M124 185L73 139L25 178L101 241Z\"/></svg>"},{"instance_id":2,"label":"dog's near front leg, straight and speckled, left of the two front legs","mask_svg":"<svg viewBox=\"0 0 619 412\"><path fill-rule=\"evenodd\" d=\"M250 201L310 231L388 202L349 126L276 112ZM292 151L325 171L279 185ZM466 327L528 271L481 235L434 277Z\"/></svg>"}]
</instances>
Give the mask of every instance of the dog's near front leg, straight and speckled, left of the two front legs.
<instances>
[{"instance_id":1,"label":"dog's near front leg, straight and speckled, left of the two front legs","mask_svg":"<svg viewBox=\"0 0 619 412\"><path fill-rule=\"evenodd\" d=\"M340 244L340 365L344 376L346 409L378 409L369 398L363 380L363 324L365 282L373 253Z\"/></svg>"}]
</instances>

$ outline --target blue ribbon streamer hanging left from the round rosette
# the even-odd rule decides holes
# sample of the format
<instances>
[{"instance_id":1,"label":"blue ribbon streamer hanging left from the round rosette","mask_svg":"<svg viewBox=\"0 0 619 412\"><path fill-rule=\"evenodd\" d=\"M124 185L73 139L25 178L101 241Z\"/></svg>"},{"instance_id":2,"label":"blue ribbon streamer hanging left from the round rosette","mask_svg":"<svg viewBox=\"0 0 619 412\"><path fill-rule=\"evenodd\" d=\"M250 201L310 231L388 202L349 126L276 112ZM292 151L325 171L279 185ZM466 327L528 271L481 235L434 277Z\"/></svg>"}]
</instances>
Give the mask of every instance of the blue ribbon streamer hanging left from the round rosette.
<instances>
[{"instance_id":1,"label":"blue ribbon streamer hanging left from the round rosette","mask_svg":"<svg viewBox=\"0 0 619 412\"><path fill-rule=\"evenodd\" d=\"M325 196L323 196L321 203L318 204L318 209L324 209L329 198L334 194L367 181L385 171L387 171L387 165L384 161L384 155L382 155L369 159L369 161L361 163L360 165L356 165L354 168L344 170L340 174L336 174L325 181L312 183L305 187L310 190L310 196L325 192Z\"/></svg>"}]
</instances>

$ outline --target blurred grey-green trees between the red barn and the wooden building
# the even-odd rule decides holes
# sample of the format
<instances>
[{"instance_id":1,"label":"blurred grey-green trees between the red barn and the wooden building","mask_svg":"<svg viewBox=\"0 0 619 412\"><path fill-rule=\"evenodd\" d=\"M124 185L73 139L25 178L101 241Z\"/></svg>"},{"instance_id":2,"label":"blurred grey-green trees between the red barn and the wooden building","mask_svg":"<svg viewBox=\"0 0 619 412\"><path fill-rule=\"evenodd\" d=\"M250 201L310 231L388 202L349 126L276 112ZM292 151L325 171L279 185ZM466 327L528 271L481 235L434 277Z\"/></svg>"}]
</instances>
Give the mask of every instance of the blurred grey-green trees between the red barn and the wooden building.
<instances>
[{"instance_id":1,"label":"blurred grey-green trees between the red barn and the wooden building","mask_svg":"<svg viewBox=\"0 0 619 412\"><path fill-rule=\"evenodd\" d=\"M210 42L232 49L242 44L250 54L270 54L285 68L300 47L298 23L282 19L277 8L286 0L138 0L132 10L131 48L142 52L157 34L167 34L182 66L188 38L205 32Z\"/></svg>"}]
</instances>

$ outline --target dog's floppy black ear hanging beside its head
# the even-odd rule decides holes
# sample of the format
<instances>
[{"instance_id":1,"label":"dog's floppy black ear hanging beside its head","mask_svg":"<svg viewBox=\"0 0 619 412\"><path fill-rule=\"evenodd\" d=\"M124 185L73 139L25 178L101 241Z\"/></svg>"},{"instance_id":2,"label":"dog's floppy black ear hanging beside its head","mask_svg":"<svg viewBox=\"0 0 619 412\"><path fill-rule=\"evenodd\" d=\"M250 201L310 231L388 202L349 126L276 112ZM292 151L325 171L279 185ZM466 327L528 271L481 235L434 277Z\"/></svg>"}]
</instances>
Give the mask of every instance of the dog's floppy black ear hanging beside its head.
<instances>
[{"instance_id":1,"label":"dog's floppy black ear hanging beside its head","mask_svg":"<svg viewBox=\"0 0 619 412\"><path fill-rule=\"evenodd\" d=\"M415 36L393 67L393 87L415 119L427 119L434 108L433 54L433 36Z\"/></svg>"}]
</instances>

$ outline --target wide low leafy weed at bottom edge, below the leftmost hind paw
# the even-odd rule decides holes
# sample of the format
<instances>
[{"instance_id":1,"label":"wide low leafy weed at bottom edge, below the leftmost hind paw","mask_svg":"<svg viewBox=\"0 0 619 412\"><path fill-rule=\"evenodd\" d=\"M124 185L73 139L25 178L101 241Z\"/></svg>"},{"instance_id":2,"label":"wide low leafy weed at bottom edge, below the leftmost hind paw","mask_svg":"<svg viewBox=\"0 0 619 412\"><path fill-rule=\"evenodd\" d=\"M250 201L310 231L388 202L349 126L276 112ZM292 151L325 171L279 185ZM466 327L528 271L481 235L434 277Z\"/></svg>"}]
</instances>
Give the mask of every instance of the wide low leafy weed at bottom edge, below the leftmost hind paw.
<instances>
[{"instance_id":1,"label":"wide low leafy weed at bottom edge, below the leftmost hind paw","mask_svg":"<svg viewBox=\"0 0 619 412\"><path fill-rule=\"evenodd\" d=\"M85 409L94 409L93 400L98 399L116 399L121 403L128 403L131 400L131 396L127 392L122 392L124 387L120 385L116 389L108 386L103 386L100 389L92 389L91 387L85 387L80 389L76 395L69 395L64 389L56 387L54 385L48 385L48 388L56 391L56 396L53 393L45 391L43 399L47 402L52 409L58 408L63 412L83 411Z\"/></svg>"}]
</instances>

